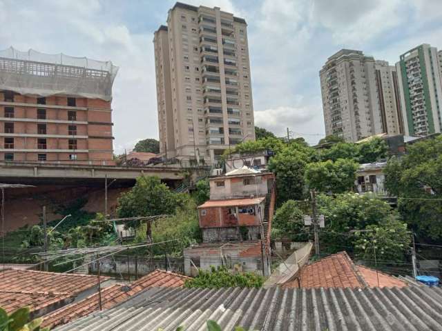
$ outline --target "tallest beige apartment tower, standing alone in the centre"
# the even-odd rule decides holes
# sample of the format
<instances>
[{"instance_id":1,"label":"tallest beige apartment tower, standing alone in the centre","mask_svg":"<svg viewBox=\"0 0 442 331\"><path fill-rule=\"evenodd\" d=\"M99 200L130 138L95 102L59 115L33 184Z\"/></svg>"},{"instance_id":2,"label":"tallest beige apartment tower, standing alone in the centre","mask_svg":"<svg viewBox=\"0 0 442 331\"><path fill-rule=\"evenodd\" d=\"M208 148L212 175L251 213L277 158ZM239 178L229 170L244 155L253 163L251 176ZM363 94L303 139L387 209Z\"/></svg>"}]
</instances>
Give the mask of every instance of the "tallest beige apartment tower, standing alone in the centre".
<instances>
[{"instance_id":1,"label":"tallest beige apartment tower, standing alone in the centre","mask_svg":"<svg viewBox=\"0 0 442 331\"><path fill-rule=\"evenodd\" d=\"M162 154L214 163L255 139L244 19L177 2L153 42Z\"/></svg>"}]
</instances>

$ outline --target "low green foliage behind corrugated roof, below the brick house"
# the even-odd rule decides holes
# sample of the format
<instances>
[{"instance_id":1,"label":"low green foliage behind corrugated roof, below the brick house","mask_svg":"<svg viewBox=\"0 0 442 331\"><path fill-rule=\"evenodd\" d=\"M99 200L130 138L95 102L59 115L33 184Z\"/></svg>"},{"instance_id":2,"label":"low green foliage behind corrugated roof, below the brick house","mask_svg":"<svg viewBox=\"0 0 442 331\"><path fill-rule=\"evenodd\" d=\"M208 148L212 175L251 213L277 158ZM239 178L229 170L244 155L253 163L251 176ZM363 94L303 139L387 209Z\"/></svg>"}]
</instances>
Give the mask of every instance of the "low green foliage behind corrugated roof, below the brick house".
<instances>
[{"instance_id":1,"label":"low green foliage behind corrugated roof, below the brick house","mask_svg":"<svg viewBox=\"0 0 442 331\"><path fill-rule=\"evenodd\" d=\"M252 272L233 274L225 267L199 270L198 276L186 280L186 288L261 288L264 279Z\"/></svg>"}]
</instances>

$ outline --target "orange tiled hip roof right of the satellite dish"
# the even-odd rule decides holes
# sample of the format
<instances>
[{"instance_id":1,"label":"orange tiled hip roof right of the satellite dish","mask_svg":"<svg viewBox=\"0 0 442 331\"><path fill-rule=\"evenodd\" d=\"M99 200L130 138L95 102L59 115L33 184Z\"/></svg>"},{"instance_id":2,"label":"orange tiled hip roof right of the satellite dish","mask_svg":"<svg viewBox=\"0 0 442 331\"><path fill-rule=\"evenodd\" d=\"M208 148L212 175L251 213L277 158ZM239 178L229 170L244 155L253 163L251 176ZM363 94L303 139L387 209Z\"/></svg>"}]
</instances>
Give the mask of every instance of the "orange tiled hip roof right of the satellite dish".
<instances>
[{"instance_id":1,"label":"orange tiled hip roof right of the satellite dish","mask_svg":"<svg viewBox=\"0 0 442 331\"><path fill-rule=\"evenodd\" d=\"M379 287L404 287L406 284L388 274L378 272ZM375 281L376 280L376 281ZM299 280L285 283L285 288L365 288L377 287L376 270L354 264L347 252L320 259L300 270Z\"/></svg>"}]
</instances>

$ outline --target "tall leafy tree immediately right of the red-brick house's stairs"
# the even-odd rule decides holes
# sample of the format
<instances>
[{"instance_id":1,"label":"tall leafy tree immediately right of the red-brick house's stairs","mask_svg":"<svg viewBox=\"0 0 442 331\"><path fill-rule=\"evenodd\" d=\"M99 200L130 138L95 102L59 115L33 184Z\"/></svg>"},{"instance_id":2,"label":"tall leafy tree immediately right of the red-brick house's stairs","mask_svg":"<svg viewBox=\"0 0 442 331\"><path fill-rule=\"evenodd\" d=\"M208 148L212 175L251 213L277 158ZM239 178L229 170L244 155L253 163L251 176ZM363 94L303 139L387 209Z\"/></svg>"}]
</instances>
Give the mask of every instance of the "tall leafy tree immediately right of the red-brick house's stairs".
<instances>
[{"instance_id":1,"label":"tall leafy tree immediately right of the red-brick house's stairs","mask_svg":"<svg viewBox=\"0 0 442 331\"><path fill-rule=\"evenodd\" d=\"M297 150L286 148L269 161L269 170L275 172L278 204L289 199L304 197L304 172L307 156Z\"/></svg>"}]
</instances>

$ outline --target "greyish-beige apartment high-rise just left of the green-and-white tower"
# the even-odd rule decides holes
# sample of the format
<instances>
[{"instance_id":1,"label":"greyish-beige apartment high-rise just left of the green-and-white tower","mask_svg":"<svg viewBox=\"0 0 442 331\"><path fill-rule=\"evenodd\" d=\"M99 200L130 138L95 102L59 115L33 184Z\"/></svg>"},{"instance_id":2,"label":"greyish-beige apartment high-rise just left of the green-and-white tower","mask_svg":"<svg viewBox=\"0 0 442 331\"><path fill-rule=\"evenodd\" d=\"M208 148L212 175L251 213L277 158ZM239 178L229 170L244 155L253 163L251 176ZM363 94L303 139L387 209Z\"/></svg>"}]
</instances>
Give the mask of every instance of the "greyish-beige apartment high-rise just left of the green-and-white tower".
<instances>
[{"instance_id":1,"label":"greyish-beige apartment high-rise just left of the green-and-white tower","mask_svg":"<svg viewBox=\"0 0 442 331\"><path fill-rule=\"evenodd\" d=\"M340 50L320 70L325 132L358 141L401 132L394 67L360 50Z\"/></svg>"}]
</instances>

